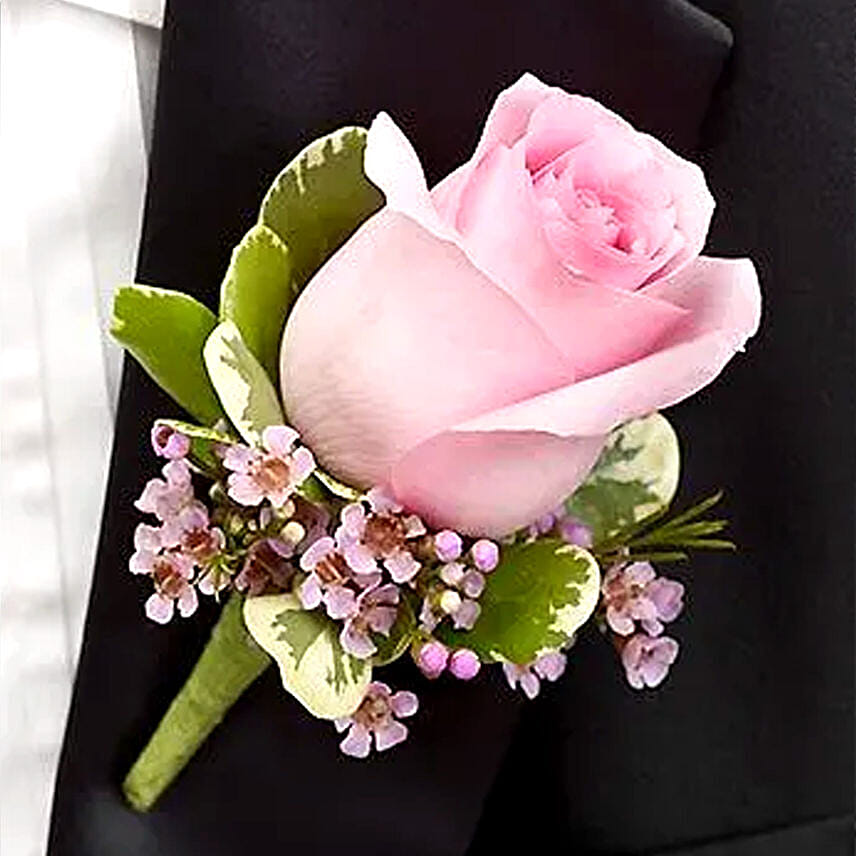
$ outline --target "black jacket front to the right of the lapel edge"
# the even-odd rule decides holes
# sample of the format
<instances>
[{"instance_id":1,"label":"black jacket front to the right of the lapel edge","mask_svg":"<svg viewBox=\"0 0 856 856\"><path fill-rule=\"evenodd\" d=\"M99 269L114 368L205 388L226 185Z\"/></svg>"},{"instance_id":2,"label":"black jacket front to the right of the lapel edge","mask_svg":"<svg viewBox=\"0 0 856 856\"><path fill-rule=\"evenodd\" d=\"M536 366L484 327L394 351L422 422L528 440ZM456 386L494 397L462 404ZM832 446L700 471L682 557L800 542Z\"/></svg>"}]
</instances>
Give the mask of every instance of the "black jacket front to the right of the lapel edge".
<instances>
[{"instance_id":1,"label":"black jacket front to the right of the lapel edge","mask_svg":"<svg viewBox=\"0 0 856 856\"><path fill-rule=\"evenodd\" d=\"M526 712L477 854L520 841L539 805L536 838L559 828L570 852L853 852L852 3L701 5L735 36L703 135L707 252L751 256L765 306L745 356L669 418L679 496L726 488L740 552L676 569L683 648L654 697L581 641Z\"/></svg>"}]
</instances>

